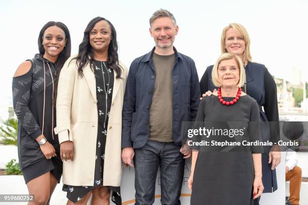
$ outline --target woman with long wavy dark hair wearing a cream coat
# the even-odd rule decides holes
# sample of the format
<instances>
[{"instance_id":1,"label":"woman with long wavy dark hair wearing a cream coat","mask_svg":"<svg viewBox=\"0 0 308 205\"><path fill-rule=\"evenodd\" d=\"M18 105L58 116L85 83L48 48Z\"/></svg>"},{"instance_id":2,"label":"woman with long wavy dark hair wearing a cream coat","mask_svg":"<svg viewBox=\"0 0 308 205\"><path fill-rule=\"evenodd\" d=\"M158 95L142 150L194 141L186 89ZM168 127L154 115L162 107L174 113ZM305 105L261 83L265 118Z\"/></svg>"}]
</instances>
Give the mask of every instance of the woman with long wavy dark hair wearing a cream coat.
<instances>
[{"instance_id":1,"label":"woman with long wavy dark hair wearing a cream coat","mask_svg":"<svg viewBox=\"0 0 308 205\"><path fill-rule=\"evenodd\" d=\"M60 73L57 126L67 204L121 203L122 106L127 77L118 61L116 31L106 19L91 20L79 54Z\"/></svg>"}]
</instances>

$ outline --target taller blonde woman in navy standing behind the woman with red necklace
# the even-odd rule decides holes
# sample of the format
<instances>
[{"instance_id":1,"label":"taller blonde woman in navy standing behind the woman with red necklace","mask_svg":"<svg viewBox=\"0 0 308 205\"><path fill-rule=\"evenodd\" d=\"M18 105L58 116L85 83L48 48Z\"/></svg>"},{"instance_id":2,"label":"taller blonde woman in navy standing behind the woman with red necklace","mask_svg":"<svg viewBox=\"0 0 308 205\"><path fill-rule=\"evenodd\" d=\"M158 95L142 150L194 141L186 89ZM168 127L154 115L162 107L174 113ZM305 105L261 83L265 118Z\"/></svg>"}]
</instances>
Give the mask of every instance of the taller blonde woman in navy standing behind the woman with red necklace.
<instances>
[{"instance_id":1,"label":"taller blonde woman in navy standing behind the woman with red necklace","mask_svg":"<svg viewBox=\"0 0 308 205\"><path fill-rule=\"evenodd\" d=\"M220 40L221 53L238 55L245 66L246 83L245 92L253 97L260 110L262 126L262 140L277 143L279 141L279 115L277 103L276 84L264 64L252 62L250 54L250 38L244 26L232 23L222 30ZM214 89L211 72L213 65L207 67L200 80L200 88L203 96L210 96ZM263 108L263 109L262 109ZM264 110L264 111L263 111ZM264 193L277 190L277 178L275 168L281 160L278 146L264 147L262 153L262 180ZM259 204L260 197L254 200L254 205Z\"/></svg>"}]
</instances>

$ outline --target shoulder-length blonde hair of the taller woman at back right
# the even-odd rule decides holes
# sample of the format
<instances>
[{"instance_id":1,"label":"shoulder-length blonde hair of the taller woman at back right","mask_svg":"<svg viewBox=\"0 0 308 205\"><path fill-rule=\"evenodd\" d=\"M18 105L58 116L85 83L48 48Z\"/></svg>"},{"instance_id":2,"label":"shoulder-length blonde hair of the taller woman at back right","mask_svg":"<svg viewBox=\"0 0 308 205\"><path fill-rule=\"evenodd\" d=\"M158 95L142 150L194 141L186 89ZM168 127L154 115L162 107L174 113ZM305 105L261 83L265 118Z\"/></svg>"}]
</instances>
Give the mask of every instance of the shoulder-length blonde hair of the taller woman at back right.
<instances>
[{"instance_id":1,"label":"shoulder-length blonde hair of the taller woman at back right","mask_svg":"<svg viewBox=\"0 0 308 205\"><path fill-rule=\"evenodd\" d=\"M244 64L247 64L247 62L251 62L251 54L250 54L250 38L248 35L247 30L244 26L237 23L231 23L228 26L226 26L221 33L221 39L220 39L220 49L221 53L227 53L228 51L225 49L225 32L229 29L233 28L235 31L238 31L243 36L243 39L245 41L245 50L243 53L243 62Z\"/></svg>"}]
</instances>

